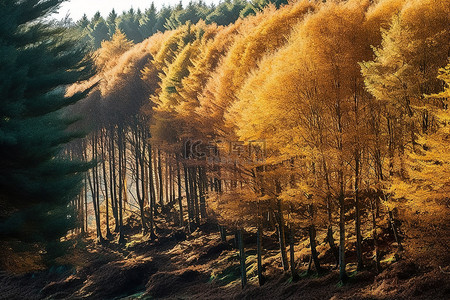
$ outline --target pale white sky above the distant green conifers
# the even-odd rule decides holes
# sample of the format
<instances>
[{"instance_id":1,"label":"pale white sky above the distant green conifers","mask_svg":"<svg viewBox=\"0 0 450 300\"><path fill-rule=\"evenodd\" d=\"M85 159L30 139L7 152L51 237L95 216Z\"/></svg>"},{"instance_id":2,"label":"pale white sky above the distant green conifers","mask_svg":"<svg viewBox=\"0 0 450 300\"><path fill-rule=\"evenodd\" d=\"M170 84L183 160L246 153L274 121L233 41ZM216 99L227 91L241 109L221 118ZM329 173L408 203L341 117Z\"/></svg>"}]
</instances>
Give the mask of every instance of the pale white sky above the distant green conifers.
<instances>
[{"instance_id":1,"label":"pale white sky above the distant green conifers","mask_svg":"<svg viewBox=\"0 0 450 300\"><path fill-rule=\"evenodd\" d=\"M191 0L182 0L183 6L186 6ZM83 14L86 14L88 18L91 18L97 11L100 11L103 17L108 16L111 10L114 8L115 11L120 14L122 11L127 11L131 7L134 9L140 8L142 11L150 7L151 3L154 2L157 9L164 6L173 6L178 4L179 0L70 0L64 2L58 14L54 17L56 19L63 19L67 13L69 13L70 18L74 21L79 20ZM212 4L219 3L219 0L203 0L203 2Z\"/></svg>"}]
</instances>

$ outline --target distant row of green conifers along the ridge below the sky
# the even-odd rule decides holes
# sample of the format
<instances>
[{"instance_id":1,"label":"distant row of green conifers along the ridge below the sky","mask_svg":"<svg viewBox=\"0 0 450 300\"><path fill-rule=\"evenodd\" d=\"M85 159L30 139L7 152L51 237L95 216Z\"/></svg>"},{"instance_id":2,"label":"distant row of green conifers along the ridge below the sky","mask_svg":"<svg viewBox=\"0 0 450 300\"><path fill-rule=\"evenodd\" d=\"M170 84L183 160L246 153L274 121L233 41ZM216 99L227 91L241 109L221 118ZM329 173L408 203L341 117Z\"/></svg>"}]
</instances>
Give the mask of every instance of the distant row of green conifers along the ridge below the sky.
<instances>
[{"instance_id":1,"label":"distant row of green conifers along the ridge below the sky","mask_svg":"<svg viewBox=\"0 0 450 300\"><path fill-rule=\"evenodd\" d=\"M254 15L267 5L274 4L279 7L287 0L226 0L217 6L207 5L203 1L192 1L186 7L180 2L176 6L163 6L157 10L152 2L150 7L117 14L113 9L106 18L97 12L91 19L84 15L71 26L83 36L86 43L94 49L101 47L101 42L110 40L116 30L122 31L127 39L140 43L157 32L174 30L190 22L197 23L204 20L207 24L229 25L239 18Z\"/></svg>"}]
</instances>

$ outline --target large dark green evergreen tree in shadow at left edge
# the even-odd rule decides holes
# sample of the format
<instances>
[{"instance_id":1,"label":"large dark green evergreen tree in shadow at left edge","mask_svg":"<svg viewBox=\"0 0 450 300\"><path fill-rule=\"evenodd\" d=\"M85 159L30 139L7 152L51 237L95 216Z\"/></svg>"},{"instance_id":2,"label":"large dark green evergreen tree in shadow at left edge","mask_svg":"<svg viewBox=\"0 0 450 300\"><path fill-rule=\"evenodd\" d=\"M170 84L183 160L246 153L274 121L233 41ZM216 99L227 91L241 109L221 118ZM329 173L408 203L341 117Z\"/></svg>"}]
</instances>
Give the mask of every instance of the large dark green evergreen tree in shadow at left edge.
<instances>
[{"instance_id":1,"label":"large dark green evergreen tree in shadow at left edge","mask_svg":"<svg viewBox=\"0 0 450 300\"><path fill-rule=\"evenodd\" d=\"M75 137L62 109L84 97L65 97L64 86L90 68L67 29L44 23L61 2L0 4L0 239L47 245L47 253L73 228L69 203L85 169L62 151Z\"/></svg>"}]
</instances>

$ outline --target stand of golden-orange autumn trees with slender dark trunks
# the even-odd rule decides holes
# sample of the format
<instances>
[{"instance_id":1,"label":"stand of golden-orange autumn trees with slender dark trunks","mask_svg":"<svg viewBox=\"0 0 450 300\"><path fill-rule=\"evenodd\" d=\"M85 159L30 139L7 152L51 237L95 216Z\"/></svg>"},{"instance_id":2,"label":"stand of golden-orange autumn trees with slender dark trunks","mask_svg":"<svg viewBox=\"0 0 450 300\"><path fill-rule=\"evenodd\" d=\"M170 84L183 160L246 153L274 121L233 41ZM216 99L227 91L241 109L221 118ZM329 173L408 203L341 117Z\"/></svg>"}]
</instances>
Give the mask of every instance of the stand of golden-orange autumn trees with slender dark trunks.
<instances>
[{"instance_id":1,"label":"stand of golden-orange autumn trees with slender dark trunks","mask_svg":"<svg viewBox=\"0 0 450 300\"><path fill-rule=\"evenodd\" d=\"M74 202L80 230L90 193L100 240L111 224L124 240L131 198L152 238L156 215L192 231L213 214L223 238L253 227L259 244L275 226L285 270L294 236L307 234L320 273L326 232L343 282L351 246L358 270L380 270L385 219L399 253L447 253L449 10L448 0L302 0L138 44L116 31L95 53L97 75L68 91L96 85L71 112L90 134L68 151L99 162Z\"/></svg>"}]
</instances>

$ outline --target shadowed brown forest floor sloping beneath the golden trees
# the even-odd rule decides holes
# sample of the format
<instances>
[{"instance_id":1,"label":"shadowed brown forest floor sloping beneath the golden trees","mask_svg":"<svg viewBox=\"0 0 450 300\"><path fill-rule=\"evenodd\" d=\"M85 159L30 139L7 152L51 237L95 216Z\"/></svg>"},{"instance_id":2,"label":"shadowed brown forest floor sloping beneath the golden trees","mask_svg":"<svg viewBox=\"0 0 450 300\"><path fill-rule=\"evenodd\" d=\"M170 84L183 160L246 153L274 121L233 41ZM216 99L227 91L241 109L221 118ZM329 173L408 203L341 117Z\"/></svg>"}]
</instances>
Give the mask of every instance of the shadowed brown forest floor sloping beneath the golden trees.
<instances>
[{"instance_id":1,"label":"shadowed brown forest floor sloping beneath the golden trees","mask_svg":"<svg viewBox=\"0 0 450 300\"><path fill-rule=\"evenodd\" d=\"M133 223L133 222L131 222ZM324 274L308 274L309 243L295 242L299 280L283 272L276 232L265 232L263 268L266 282L259 287L256 273L256 235L244 235L248 284L240 284L234 235L220 240L217 225L205 223L190 235L166 223L158 224L158 238L139 233L137 221L127 226L128 242L99 245L93 237L79 238L65 264L21 275L0 272L0 299L450 299L450 275L442 268L424 268L382 245L383 271L356 272L355 253L346 253L350 276L339 284L334 259L319 235L318 250ZM390 240L389 230L383 230ZM391 239L392 240L392 239ZM372 241L373 244L373 241ZM366 262L370 239L365 238Z\"/></svg>"}]
</instances>

